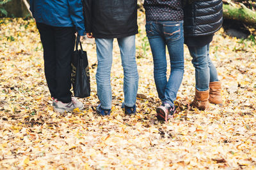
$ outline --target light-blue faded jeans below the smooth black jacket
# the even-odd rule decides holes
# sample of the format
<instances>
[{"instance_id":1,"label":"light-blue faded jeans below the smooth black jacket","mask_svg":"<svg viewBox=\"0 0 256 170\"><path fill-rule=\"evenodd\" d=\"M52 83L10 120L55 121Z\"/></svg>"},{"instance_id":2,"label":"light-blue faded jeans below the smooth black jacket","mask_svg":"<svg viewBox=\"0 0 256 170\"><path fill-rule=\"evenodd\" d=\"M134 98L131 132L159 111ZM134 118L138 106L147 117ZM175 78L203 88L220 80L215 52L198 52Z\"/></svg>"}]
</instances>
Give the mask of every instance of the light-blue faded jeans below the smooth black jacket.
<instances>
[{"instance_id":1,"label":"light-blue faded jeans below the smooth black jacket","mask_svg":"<svg viewBox=\"0 0 256 170\"><path fill-rule=\"evenodd\" d=\"M118 38L122 66L124 68L124 104L132 107L136 103L139 75L136 64L135 35ZM95 39L97 45L98 67L96 73L97 94L100 107L109 110L112 103L110 73L113 60L113 38Z\"/></svg>"}]
</instances>

